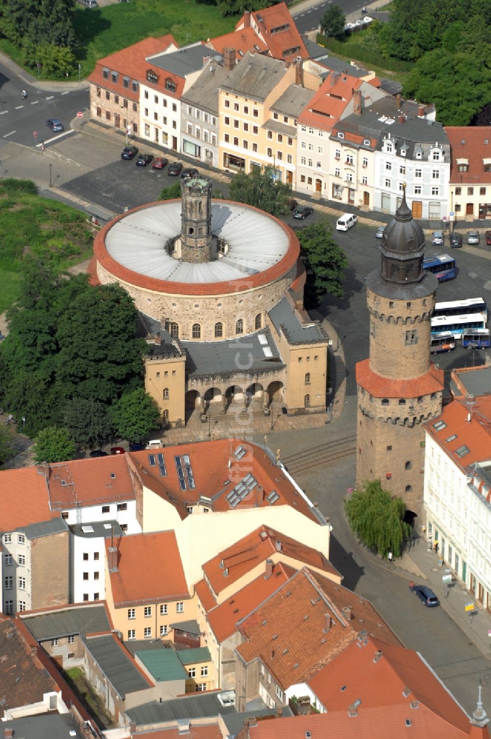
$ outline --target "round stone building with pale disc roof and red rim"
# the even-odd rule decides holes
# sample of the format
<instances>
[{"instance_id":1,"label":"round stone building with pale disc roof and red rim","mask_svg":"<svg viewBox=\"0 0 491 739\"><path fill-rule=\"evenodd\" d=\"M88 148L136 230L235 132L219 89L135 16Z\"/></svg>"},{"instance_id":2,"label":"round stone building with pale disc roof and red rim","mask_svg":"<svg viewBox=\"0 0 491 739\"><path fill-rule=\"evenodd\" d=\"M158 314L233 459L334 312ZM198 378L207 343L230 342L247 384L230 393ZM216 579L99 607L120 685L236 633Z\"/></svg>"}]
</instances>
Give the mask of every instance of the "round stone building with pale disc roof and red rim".
<instances>
[{"instance_id":1,"label":"round stone building with pale disc roof and red rim","mask_svg":"<svg viewBox=\"0 0 491 739\"><path fill-rule=\"evenodd\" d=\"M135 208L100 231L99 281L119 282L140 313L183 341L262 328L297 276L297 236L250 205L211 200L209 180L181 189L182 200Z\"/></svg>"}]
</instances>

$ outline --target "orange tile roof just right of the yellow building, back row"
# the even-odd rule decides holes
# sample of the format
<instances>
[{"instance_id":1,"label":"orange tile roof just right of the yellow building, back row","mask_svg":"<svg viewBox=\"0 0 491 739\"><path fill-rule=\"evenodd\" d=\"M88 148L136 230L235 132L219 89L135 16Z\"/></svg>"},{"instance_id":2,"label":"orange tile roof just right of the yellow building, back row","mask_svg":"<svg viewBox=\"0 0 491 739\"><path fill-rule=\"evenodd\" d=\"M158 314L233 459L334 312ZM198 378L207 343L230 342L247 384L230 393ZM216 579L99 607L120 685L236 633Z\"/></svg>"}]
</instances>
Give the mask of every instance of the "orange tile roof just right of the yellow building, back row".
<instances>
[{"instance_id":1,"label":"orange tile roof just right of the yellow building, back row","mask_svg":"<svg viewBox=\"0 0 491 739\"><path fill-rule=\"evenodd\" d=\"M310 103L299 117L299 123L306 123L322 131L331 131L339 116L345 110L363 81L351 75L331 72L317 90Z\"/></svg>"}]
</instances>

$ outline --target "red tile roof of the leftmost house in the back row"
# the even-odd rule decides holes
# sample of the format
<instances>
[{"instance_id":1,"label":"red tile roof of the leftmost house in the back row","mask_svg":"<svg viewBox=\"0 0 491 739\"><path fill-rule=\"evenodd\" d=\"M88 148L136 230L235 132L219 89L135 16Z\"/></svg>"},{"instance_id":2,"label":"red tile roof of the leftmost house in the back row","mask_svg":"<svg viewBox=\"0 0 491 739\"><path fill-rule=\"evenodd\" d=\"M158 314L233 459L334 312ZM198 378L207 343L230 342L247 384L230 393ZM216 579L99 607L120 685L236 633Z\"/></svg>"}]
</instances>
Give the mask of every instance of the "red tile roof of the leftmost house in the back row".
<instances>
[{"instance_id":1,"label":"red tile roof of the leftmost house in the back row","mask_svg":"<svg viewBox=\"0 0 491 739\"><path fill-rule=\"evenodd\" d=\"M122 95L124 98L134 100L138 102L139 92L132 92L131 80L136 82L145 81L146 84L146 70L152 65L146 61L147 56L159 54L170 46L178 48L177 41L170 33L166 33L160 38L144 38L143 41L138 41L138 44L132 44L126 49L121 49L114 54L109 54L102 59L99 59L95 65L95 69L91 75L87 78L92 84L104 87L104 89L111 89L116 94ZM109 69L109 79L104 79L103 69ZM118 82L113 83L111 81L110 72L118 72ZM123 75L130 78L129 87L123 87Z\"/></svg>"}]
</instances>

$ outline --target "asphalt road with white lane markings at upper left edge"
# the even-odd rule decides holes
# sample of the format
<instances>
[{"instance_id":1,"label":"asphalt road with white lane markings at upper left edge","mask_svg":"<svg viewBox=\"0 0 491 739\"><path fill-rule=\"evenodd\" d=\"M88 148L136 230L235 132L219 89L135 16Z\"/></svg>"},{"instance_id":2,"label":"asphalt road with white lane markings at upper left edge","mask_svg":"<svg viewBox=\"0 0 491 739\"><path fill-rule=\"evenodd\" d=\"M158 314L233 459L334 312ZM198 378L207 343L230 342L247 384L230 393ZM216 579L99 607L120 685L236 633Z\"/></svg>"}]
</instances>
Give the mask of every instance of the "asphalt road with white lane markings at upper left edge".
<instances>
[{"instance_id":1,"label":"asphalt road with white lane markings at upper left edge","mask_svg":"<svg viewBox=\"0 0 491 739\"><path fill-rule=\"evenodd\" d=\"M22 89L27 92L27 99L22 100ZM79 110L87 110L89 91L82 89L71 92L45 92L29 86L0 64L0 152L1 146L10 141L35 146L35 143L55 137L46 125L48 118L59 118L65 128L75 118ZM37 131L35 139L33 133ZM64 132L61 138L71 136Z\"/></svg>"}]
</instances>

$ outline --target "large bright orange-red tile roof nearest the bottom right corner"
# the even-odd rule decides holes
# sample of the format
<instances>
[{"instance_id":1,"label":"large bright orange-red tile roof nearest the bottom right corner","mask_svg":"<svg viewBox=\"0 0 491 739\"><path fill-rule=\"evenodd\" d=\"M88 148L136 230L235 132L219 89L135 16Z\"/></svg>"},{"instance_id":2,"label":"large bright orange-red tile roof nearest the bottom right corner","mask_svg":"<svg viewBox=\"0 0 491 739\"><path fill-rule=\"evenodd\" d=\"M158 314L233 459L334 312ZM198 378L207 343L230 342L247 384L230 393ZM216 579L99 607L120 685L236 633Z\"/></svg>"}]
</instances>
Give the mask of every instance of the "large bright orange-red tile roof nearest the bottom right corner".
<instances>
[{"instance_id":1,"label":"large bright orange-red tile roof nearest the bottom right corner","mask_svg":"<svg viewBox=\"0 0 491 739\"><path fill-rule=\"evenodd\" d=\"M410 704L419 701L461 731L469 727L467 716L419 654L381 639L353 642L308 685L328 712L360 700L364 708L401 704L413 713Z\"/></svg>"}]
</instances>

